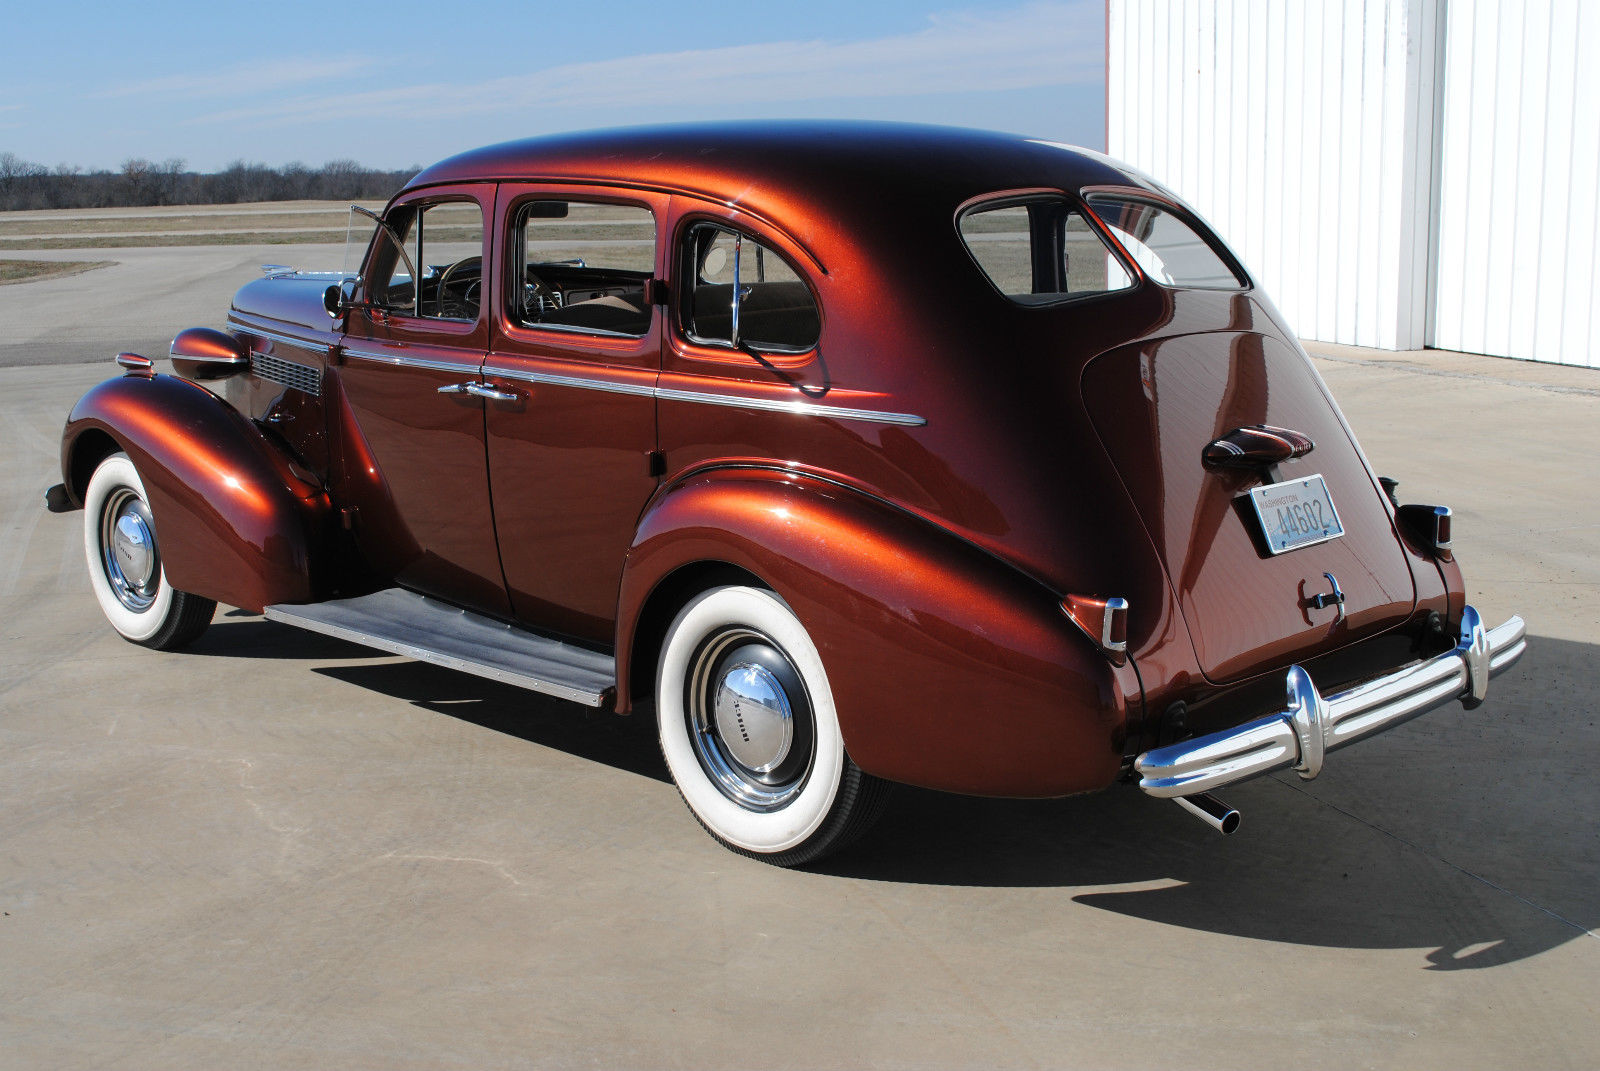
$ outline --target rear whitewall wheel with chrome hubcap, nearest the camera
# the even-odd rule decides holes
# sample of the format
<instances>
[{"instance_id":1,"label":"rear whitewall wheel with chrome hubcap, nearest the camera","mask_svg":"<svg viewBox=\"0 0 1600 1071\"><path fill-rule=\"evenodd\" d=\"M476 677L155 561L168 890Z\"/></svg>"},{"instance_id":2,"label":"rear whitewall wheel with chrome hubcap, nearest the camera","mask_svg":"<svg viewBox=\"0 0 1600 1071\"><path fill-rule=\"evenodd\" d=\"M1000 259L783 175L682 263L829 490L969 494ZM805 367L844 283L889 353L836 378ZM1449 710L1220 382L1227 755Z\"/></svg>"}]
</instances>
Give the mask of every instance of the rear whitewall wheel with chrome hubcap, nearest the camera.
<instances>
[{"instance_id":1,"label":"rear whitewall wheel with chrome hubcap, nearest the camera","mask_svg":"<svg viewBox=\"0 0 1600 1071\"><path fill-rule=\"evenodd\" d=\"M816 645L770 591L714 588L683 607L661 650L656 719L683 802L741 855L810 863L882 810L886 783L845 752Z\"/></svg>"}]
</instances>

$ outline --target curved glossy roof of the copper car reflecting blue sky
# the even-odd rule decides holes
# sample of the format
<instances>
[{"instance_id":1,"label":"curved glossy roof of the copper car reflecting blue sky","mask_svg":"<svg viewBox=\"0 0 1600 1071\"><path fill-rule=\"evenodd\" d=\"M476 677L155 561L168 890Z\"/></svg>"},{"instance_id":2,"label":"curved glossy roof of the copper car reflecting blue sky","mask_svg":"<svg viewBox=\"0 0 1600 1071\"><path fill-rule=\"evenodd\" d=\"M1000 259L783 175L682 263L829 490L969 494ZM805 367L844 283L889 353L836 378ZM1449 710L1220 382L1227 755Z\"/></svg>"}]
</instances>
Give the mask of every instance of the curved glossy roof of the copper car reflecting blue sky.
<instances>
[{"instance_id":1,"label":"curved glossy roof of the copper car reflecting blue sky","mask_svg":"<svg viewBox=\"0 0 1600 1071\"><path fill-rule=\"evenodd\" d=\"M571 181L672 192L758 211L854 215L864 194L910 208L992 191L1146 186L1136 171L1059 142L954 126L773 120L629 126L506 141L418 173L406 191L474 181Z\"/></svg>"}]
</instances>

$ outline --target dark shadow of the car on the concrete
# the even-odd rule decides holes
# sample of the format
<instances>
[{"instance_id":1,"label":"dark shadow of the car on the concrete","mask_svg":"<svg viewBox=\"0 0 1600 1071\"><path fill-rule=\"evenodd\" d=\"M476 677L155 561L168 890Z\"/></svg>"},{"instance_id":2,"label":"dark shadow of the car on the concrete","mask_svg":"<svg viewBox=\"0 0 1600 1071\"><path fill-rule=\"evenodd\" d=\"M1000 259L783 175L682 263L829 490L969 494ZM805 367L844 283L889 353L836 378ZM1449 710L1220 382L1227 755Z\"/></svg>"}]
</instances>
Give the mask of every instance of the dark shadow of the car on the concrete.
<instances>
[{"instance_id":1,"label":"dark shadow of the car on the concrete","mask_svg":"<svg viewBox=\"0 0 1600 1071\"><path fill-rule=\"evenodd\" d=\"M235 629L251 624L240 634L250 642L237 645ZM373 655L259 620L213 632L227 644L208 653ZM1587 671L1597 655L1590 644L1530 637L1480 711L1435 711L1339 752L1312 783L1277 773L1224 792L1245 815L1232 837L1128 786L1056 800L899 786L861 842L811 869L898 884L1064 888L1078 905L1190 930L1416 948L1429 970L1515 962L1600 924L1592 823L1600 788L1587 770L1600 749L1592 714L1600 680ZM614 717L410 661L314 672L669 781L648 711ZM1552 717L1563 719L1555 732Z\"/></svg>"}]
</instances>

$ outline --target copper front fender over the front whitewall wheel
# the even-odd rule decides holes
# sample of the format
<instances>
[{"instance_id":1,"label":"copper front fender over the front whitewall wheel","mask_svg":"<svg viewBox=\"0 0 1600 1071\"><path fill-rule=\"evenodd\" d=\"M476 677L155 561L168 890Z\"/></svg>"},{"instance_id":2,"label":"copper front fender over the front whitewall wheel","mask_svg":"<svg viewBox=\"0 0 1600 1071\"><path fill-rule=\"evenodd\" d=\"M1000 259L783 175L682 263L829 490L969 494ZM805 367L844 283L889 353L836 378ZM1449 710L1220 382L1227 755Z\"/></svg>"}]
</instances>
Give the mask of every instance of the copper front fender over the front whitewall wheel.
<instances>
[{"instance_id":1,"label":"copper front fender over the front whitewall wheel","mask_svg":"<svg viewBox=\"0 0 1600 1071\"><path fill-rule=\"evenodd\" d=\"M320 594L326 493L219 397L160 375L93 387L61 440L74 504L112 443L144 482L173 588L254 612Z\"/></svg>"}]
</instances>

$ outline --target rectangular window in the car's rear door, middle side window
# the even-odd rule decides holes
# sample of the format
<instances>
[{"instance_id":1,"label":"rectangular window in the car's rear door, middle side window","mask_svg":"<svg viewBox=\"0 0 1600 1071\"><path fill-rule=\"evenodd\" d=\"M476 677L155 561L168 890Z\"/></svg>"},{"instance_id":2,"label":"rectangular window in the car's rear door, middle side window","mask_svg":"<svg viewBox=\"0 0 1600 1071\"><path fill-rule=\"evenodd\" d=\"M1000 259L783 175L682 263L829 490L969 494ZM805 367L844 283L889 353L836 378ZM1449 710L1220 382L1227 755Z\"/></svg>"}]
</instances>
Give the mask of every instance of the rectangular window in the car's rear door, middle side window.
<instances>
[{"instance_id":1,"label":"rectangular window in the car's rear door, middle side window","mask_svg":"<svg viewBox=\"0 0 1600 1071\"><path fill-rule=\"evenodd\" d=\"M650 330L656 216L642 205L533 200L517 215L523 327L642 336Z\"/></svg>"}]
</instances>

